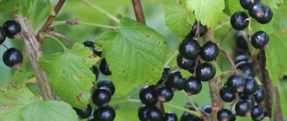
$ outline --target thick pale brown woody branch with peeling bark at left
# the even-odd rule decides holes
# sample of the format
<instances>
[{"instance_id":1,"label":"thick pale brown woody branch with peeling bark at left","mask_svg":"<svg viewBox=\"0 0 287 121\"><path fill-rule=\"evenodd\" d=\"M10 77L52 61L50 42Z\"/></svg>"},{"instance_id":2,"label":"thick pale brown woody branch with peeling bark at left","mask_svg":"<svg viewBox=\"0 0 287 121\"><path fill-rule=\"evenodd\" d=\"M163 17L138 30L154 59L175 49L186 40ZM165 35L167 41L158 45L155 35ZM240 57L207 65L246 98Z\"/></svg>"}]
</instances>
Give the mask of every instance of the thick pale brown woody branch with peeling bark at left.
<instances>
[{"instance_id":1,"label":"thick pale brown woody branch with peeling bark at left","mask_svg":"<svg viewBox=\"0 0 287 121\"><path fill-rule=\"evenodd\" d=\"M48 82L48 75L45 71L41 70L39 66L39 58L43 56L41 43L37 41L37 38L27 18L24 18L21 14L13 13L12 17L21 25L21 38L37 78L41 96L44 100L56 100L56 95Z\"/></svg>"}]
</instances>

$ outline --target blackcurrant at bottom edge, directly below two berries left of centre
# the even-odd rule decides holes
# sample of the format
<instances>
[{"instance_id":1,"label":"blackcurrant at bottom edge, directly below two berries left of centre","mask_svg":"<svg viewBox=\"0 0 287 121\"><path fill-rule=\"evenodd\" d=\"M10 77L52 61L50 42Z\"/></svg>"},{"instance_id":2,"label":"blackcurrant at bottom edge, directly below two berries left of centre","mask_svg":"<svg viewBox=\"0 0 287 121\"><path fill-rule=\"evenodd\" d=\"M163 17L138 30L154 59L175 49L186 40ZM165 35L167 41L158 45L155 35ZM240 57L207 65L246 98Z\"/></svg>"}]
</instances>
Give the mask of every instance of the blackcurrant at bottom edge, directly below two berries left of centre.
<instances>
[{"instance_id":1,"label":"blackcurrant at bottom edge, directly below two berries left of centre","mask_svg":"<svg viewBox=\"0 0 287 121\"><path fill-rule=\"evenodd\" d=\"M113 121L116 117L116 112L111 106L97 107L93 116L97 121Z\"/></svg>"}]
</instances>

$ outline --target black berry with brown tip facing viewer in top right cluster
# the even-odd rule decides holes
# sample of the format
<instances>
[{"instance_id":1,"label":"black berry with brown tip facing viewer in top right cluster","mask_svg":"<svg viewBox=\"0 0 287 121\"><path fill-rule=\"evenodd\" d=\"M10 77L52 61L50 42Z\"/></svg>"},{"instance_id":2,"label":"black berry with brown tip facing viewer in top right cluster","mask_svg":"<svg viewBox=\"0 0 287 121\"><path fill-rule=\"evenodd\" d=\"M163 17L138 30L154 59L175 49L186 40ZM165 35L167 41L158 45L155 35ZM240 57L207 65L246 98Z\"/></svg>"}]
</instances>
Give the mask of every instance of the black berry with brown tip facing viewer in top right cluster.
<instances>
[{"instance_id":1,"label":"black berry with brown tip facing viewer in top right cluster","mask_svg":"<svg viewBox=\"0 0 287 121\"><path fill-rule=\"evenodd\" d=\"M255 19L263 18L266 8L261 2L253 2L248 8L248 14Z\"/></svg>"}]
</instances>

